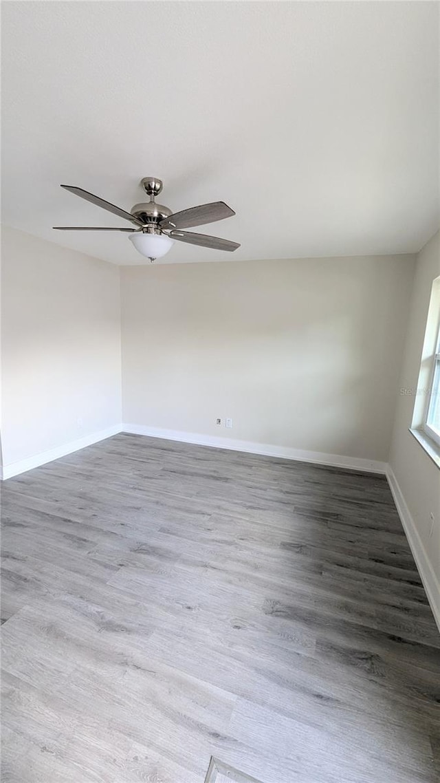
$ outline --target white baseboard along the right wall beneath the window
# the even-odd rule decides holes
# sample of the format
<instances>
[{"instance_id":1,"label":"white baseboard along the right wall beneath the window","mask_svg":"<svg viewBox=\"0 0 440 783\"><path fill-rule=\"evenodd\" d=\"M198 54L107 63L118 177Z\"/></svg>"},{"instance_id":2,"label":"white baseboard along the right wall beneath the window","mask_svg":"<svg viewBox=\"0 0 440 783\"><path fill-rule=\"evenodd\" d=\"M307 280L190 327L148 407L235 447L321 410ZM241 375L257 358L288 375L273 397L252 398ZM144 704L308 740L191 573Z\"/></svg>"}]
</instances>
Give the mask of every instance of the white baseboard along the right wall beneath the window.
<instances>
[{"instance_id":1,"label":"white baseboard along the right wall beneath the window","mask_svg":"<svg viewBox=\"0 0 440 783\"><path fill-rule=\"evenodd\" d=\"M406 500L403 496L402 489L400 489L399 482L397 481L397 478L395 478L395 474L389 465L387 468L387 478L394 498L395 507L399 513L402 527L405 531L406 538L408 539L409 547L413 553L413 558L416 561L417 571L420 574L420 579L422 580L425 593L427 594L427 600L429 601L435 622L440 631L440 581L427 556L427 551L424 548L413 517L406 505Z\"/></svg>"}]
</instances>

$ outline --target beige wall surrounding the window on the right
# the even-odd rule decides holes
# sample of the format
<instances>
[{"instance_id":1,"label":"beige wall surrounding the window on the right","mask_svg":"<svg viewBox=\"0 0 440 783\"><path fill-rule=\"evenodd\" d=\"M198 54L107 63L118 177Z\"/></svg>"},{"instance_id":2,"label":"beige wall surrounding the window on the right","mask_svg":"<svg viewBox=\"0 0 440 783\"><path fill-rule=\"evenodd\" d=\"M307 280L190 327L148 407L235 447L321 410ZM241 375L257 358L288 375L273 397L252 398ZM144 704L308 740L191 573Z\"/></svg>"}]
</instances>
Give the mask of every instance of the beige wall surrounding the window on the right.
<instances>
[{"instance_id":1,"label":"beige wall surrounding the window on the right","mask_svg":"<svg viewBox=\"0 0 440 783\"><path fill-rule=\"evenodd\" d=\"M402 389L417 388L432 283L440 275L439 237L438 233L433 236L417 258L402 375L399 382L399 387ZM390 465L413 518L417 534L420 536L424 548L421 557L426 557L432 572L440 580L440 471L409 432L413 406L413 395L398 396ZM431 512L435 515L432 536L430 536ZM440 596L438 608L440 609Z\"/></svg>"}]
</instances>

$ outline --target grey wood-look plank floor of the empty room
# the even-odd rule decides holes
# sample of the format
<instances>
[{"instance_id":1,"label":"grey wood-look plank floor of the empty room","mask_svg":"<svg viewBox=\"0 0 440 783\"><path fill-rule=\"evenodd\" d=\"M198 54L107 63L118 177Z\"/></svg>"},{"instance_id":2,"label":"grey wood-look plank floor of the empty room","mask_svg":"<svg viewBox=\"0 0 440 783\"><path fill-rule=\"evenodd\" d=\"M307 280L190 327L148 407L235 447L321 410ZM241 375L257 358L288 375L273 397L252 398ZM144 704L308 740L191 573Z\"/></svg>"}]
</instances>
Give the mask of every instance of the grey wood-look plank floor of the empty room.
<instances>
[{"instance_id":1,"label":"grey wood-look plank floor of the empty room","mask_svg":"<svg viewBox=\"0 0 440 783\"><path fill-rule=\"evenodd\" d=\"M384 477L116 435L2 485L3 783L433 783Z\"/></svg>"}]
</instances>

